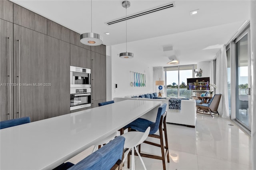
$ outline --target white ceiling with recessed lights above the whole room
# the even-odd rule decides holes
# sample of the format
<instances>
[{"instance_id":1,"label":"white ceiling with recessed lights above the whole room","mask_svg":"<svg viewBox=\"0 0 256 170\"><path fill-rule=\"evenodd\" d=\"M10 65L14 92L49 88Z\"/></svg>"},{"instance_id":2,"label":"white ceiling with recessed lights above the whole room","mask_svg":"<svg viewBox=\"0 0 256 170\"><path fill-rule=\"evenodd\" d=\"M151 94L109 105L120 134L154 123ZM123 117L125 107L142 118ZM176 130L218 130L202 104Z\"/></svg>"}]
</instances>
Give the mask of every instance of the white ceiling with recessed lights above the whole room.
<instances>
[{"instance_id":1,"label":"white ceiling with recessed lights above the whole room","mask_svg":"<svg viewBox=\"0 0 256 170\"><path fill-rule=\"evenodd\" d=\"M12 1L80 34L90 32L90 0ZM130 2L127 15L174 1ZM167 66L168 54L163 47L172 45L180 65L209 61L220 45L227 43L245 20L250 20L247 0L176 0L175 4L174 8L127 21L128 52L133 52L134 58L152 66ZM198 14L190 16L190 11L196 9ZM92 1L92 31L103 36L103 43L112 46L112 56L116 57L125 52L125 22L111 26L105 23L124 16L122 0ZM217 48L205 49L212 45Z\"/></svg>"}]
</instances>

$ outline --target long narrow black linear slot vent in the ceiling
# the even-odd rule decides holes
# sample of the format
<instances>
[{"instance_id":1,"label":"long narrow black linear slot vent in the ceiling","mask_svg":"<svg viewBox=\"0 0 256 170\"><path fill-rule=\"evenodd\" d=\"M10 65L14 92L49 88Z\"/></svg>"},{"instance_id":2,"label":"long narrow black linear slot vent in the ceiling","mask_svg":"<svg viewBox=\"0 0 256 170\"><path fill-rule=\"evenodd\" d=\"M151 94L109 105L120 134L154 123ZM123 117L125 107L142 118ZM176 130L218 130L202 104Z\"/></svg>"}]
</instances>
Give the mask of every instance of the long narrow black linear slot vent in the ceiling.
<instances>
[{"instance_id":1,"label":"long narrow black linear slot vent in the ceiling","mask_svg":"<svg viewBox=\"0 0 256 170\"><path fill-rule=\"evenodd\" d=\"M153 12L161 11L161 10L168 9L168 8L174 8L174 7L175 7L175 3L172 2L170 4L165 4L163 6L158 6L156 8L153 8L153 9L150 9L150 10L146 10L146 11L143 11L143 12L139 12L137 14L132 14L132 15L127 16L127 17L123 17L123 18L119 18L119 19L116 19L116 20L112 20L110 22L106 22L106 24L112 25L112 24L116 24L118 22L122 22L122 21L125 21L125 20L130 20L132 18L136 18L136 17L139 17L139 16L144 16L146 14L151 14Z\"/></svg>"}]
</instances>

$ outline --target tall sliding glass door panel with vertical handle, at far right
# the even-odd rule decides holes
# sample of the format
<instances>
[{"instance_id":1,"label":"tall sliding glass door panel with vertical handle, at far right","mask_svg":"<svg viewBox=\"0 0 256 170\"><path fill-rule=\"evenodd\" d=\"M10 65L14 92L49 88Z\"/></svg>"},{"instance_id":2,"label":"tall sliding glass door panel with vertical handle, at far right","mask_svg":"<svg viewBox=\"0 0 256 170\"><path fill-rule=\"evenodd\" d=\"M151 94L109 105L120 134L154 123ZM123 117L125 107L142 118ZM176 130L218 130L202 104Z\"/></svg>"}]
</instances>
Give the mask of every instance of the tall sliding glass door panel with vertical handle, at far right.
<instances>
[{"instance_id":1,"label":"tall sliding glass door panel with vertical handle, at far right","mask_svg":"<svg viewBox=\"0 0 256 170\"><path fill-rule=\"evenodd\" d=\"M235 40L236 48L236 120L251 129L250 32L246 29Z\"/></svg>"}]
</instances>

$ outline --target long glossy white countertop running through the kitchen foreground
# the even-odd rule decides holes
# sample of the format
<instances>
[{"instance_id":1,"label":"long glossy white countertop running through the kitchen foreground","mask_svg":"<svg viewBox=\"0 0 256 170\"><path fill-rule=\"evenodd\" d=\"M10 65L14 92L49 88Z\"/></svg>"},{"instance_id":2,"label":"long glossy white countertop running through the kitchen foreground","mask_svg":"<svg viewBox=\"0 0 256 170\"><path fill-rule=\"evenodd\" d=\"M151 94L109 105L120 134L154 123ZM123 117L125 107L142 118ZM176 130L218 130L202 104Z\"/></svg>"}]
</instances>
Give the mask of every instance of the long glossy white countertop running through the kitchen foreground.
<instances>
[{"instance_id":1,"label":"long glossy white countertop running through the kitchen foreground","mask_svg":"<svg viewBox=\"0 0 256 170\"><path fill-rule=\"evenodd\" d=\"M126 100L0 130L0 169L52 169L160 101Z\"/></svg>"}]
</instances>

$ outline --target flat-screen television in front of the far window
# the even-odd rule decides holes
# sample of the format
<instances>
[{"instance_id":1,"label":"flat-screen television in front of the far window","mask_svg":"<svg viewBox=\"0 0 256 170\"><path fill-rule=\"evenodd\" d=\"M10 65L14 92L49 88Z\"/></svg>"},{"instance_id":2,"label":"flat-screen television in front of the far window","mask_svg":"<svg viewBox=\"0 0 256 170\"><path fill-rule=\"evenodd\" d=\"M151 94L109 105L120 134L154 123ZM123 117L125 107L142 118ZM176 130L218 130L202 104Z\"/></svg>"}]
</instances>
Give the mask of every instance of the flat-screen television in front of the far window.
<instances>
[{"instance_id":1,"label":"flat-screen television in front of the far window","mask_svg":"<svg viewBox=\"0 0 256 170\"><path fill-rule=\"evenodd\" d=\"M188 90L210 90L210 77L187 79Z\"/></svg>"}]
</instances>

